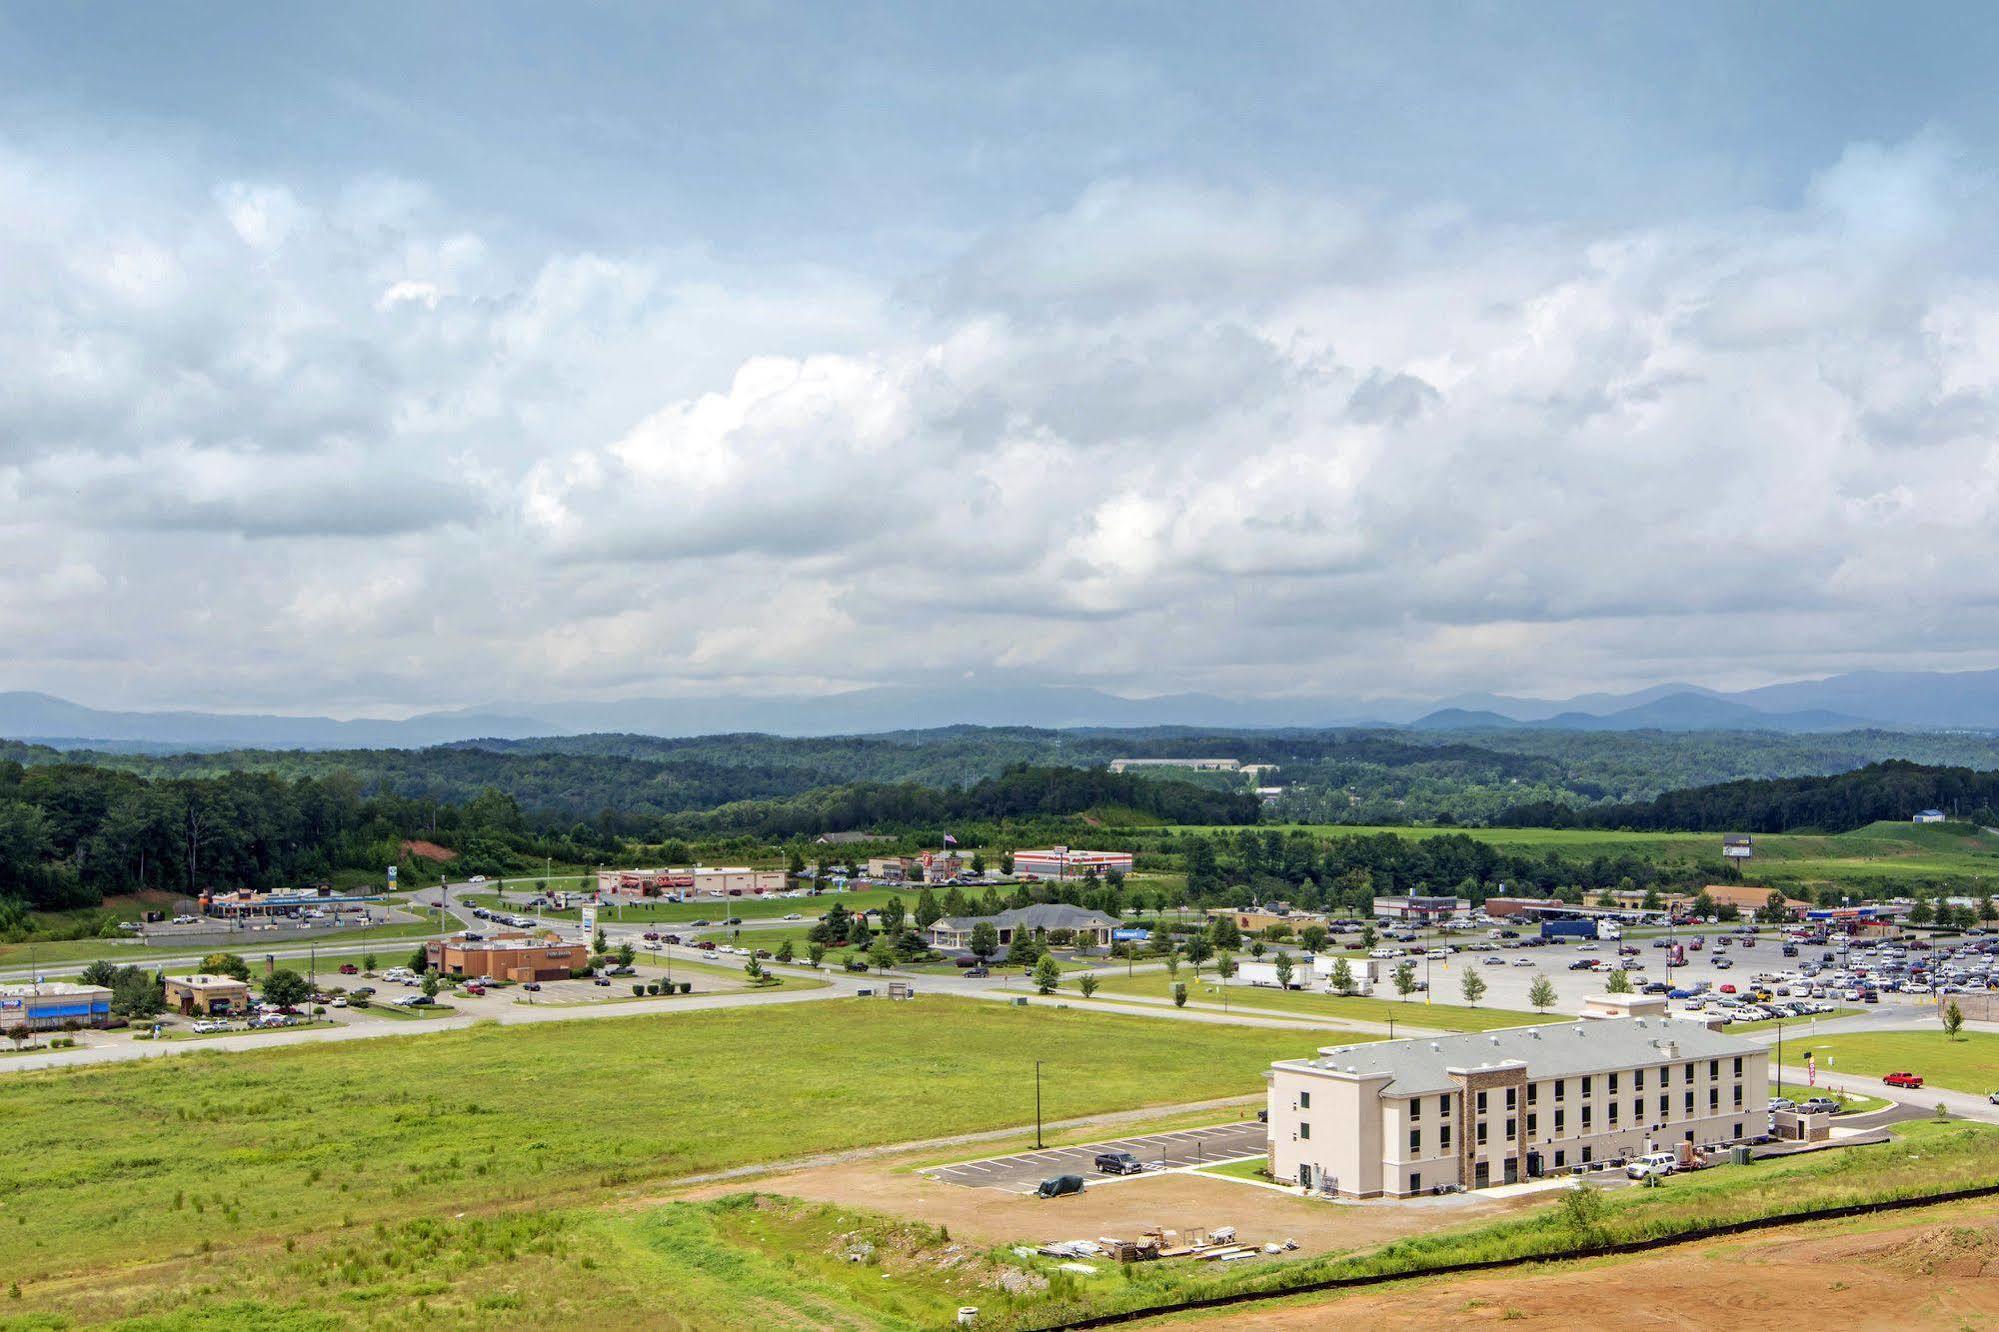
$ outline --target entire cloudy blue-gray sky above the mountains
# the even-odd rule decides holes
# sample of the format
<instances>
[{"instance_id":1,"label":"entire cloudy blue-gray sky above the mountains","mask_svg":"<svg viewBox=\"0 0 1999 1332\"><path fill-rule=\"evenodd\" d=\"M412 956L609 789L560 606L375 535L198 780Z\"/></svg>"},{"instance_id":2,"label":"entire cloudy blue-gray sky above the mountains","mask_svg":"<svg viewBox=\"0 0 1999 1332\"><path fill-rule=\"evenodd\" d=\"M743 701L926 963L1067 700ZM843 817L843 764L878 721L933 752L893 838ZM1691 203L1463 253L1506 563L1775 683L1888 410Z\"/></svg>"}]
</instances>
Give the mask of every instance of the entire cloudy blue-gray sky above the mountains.
<instances>
[{"instance_id":1,"label":"entire cloudy blue-gray sky above the mountains","mask_svg":"<svg viewBox=\"0 0 1999 1332\"><path fill-rule=\"evenodd\" d=\"M0 6L0 688L1999 664L1983 6L658 8Z\"/></svg>"}]
</instances>

